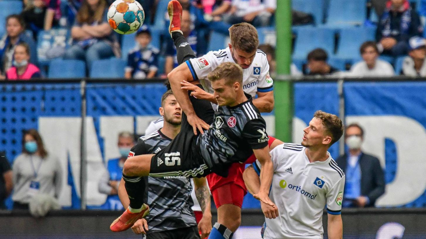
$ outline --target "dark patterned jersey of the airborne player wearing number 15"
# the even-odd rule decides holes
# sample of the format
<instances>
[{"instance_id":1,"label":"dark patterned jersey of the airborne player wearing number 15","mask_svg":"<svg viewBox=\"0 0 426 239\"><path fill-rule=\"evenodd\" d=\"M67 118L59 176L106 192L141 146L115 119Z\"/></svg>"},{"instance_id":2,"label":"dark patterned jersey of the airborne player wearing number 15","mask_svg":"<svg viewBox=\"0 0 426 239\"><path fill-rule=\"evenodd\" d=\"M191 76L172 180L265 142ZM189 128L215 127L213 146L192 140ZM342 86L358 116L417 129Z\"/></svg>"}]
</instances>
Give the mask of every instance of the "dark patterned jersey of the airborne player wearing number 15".
<instances>
[{"instance_id":1,"label":"dark patterned jersey of the airborne player wearing number 15","mask_svg":"<svg viewBox=\"0 0 426 239\"><path fill-rule=\"evenodd\" d=\"M253 149L268 145L266 123L253 105L252 97L233 106L218 107L214 122L197 138L199 154L216 174L226 177L233 162L245 162Z\"/></svg>"}]
</instances>

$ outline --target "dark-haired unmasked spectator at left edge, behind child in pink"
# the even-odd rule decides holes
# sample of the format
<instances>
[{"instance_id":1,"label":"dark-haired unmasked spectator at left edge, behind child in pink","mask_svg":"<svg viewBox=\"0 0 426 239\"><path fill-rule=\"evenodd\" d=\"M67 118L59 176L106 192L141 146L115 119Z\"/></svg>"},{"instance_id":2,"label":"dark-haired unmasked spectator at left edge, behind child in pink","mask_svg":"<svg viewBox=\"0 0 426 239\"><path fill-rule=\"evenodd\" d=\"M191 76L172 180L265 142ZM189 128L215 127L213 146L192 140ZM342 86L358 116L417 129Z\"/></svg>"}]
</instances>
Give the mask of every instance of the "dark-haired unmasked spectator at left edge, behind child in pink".
<instances>
[{"instance_id":1,"label":"dark-haired unmasked spectator at left edge, behind child in pink","mask_svg":"<svg viewBox=\"0 0 426 239\"><path fill-rule=\"evenodd\" d=\"M37 63L37 52L34 40L23 33L25 23L20 15L12 14L6 17L6 34L0 39L0 79L5 78L6 70L11 68L14 49L20 42L25 42L30 50L30 62Z\"/></svg>"}]
</instances>

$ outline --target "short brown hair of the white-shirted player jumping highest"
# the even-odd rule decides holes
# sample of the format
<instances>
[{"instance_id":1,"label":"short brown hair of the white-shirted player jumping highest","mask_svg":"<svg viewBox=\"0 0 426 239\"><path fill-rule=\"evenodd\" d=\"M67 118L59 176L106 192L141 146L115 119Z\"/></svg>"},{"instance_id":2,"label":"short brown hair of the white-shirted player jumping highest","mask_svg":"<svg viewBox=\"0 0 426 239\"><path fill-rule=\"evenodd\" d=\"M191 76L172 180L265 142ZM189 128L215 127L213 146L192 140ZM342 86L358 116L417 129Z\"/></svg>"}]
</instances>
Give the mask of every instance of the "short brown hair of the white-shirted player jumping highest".
<instances>
[{"instance_id":1,"label":"short brown hair of the white-shirted player jumping highest","mask_svg":"<svg viewBox=\"0 0 426 239\"><path fill-rule=\"evenodd\" d=\"M253 52L259 46L256 28L249 23L234 24L229 28L231 46L245 52Z\"/></svg>"}]
</instances>

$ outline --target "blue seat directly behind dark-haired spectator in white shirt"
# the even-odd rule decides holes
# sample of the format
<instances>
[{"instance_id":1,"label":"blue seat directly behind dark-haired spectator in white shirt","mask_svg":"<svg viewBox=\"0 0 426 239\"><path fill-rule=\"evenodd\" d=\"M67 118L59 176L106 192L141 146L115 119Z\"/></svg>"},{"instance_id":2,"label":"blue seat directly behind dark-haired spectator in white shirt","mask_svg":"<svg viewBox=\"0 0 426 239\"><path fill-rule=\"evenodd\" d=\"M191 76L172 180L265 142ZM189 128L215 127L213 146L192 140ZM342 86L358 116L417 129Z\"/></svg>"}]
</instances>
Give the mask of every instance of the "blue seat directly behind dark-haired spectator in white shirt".
<instances>
[{"instance_id":1,"label":"blue seat directly behind dark-haired spectator in white shirt","mask_svg":"<svg viewBox=\"0 0 426 239\"><path fill-rule=\"evenodd\" d=\"M374 40L376 29L369 27L351 27L340 30L340 41L337 45L337 57L353 59L360 55L363 42Z\"/></svg>"}]
</instances>

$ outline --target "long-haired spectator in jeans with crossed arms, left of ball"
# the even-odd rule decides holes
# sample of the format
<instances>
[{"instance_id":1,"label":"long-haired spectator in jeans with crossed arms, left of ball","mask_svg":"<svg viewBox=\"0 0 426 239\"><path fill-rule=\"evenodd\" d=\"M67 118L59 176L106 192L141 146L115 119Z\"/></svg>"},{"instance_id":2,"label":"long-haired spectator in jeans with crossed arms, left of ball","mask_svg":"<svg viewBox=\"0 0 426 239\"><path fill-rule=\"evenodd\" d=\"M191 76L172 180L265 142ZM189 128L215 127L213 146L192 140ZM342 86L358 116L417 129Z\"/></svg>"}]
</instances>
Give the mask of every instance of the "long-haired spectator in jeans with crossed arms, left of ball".
<instances>
[{"instance_id":1,"label":"long-haired spectator in jeans with crossed arms, left of ball","mask_svg":"<svg viewBox=\"0 0 426 239\"><path fill-rule=\"evenodd\" d=\"M65 59L93 61L119 57L116 36L107 22L106 0L84 0L71 29L73 45L65 52ZM113 51L117 49L117 51Z\"/></svg>"}]
</instances>

